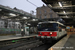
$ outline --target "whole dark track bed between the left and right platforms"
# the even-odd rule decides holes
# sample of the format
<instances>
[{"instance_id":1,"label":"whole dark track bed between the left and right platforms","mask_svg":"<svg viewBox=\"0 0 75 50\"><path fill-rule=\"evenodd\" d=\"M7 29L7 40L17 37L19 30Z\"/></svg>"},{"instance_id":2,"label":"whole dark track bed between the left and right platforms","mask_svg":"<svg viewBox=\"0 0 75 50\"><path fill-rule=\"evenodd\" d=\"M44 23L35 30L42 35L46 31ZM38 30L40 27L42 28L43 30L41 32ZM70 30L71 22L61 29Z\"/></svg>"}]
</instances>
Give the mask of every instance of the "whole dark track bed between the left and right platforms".
<instances>
[{"instance_id":1,"label":"whole dark track bed between the left and right platforms","mask_svg":"<svg viewBox=\"0 0 75 50\"><path fill-rule=\"evenodd\" d=\"M50 44L44 44L36 38L19 39L19 41L12 42L12 43L11 41L8 41L8 42L10 43L5 42L6 45L1 46L0 50L47 50L52 45L57 43L55 42L55 43L50 43Z\"/></svg>"}]
</instances>

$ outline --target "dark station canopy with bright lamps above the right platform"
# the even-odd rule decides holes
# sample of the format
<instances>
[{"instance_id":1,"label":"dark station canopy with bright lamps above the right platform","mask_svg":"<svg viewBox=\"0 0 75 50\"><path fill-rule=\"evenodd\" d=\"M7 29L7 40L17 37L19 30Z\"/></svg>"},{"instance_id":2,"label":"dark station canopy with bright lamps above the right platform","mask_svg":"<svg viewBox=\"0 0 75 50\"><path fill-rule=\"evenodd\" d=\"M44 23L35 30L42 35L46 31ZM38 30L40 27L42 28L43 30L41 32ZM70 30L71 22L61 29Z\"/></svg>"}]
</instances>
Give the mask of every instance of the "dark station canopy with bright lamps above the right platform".
<instances>
[{"instance_id":1,"label":"dark station canopy with bright lamps above the right platform","mask_svg":"<svg viewBox=\"0 0 75 50\"><path fill-rule=\"evenodd\" d=\"M75 26L75 0L42 0L61 17L66 25Z\"/></svg>"}]
</instances>

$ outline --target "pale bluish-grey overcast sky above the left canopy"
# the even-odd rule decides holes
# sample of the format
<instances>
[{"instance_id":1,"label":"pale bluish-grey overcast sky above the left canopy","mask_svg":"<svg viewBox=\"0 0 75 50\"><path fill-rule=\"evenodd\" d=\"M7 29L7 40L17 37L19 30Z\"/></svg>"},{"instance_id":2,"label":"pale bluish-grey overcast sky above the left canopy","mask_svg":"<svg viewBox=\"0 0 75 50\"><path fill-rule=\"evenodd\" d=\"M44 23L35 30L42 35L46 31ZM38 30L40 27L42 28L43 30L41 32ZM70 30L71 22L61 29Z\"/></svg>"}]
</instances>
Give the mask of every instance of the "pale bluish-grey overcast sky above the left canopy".
<instances>
[{"instance_id":1,"label":"pale bluish-grey overcast sky above the left canopy","mask_svg":"<svg viewBox=\"0 0 75 50\"><path fill-rule=\"evenodd\" d=\"M41 7L44 3L41 0L28 0L31 3L35 4L37 7ZM26 12L34 11L36 12L36 6L29 3L27 0L0 0L0 4L4 6L9 6L11 8L18 8ZM45 5L45 4L44 4Z\"/></svg>"}]
</instances>

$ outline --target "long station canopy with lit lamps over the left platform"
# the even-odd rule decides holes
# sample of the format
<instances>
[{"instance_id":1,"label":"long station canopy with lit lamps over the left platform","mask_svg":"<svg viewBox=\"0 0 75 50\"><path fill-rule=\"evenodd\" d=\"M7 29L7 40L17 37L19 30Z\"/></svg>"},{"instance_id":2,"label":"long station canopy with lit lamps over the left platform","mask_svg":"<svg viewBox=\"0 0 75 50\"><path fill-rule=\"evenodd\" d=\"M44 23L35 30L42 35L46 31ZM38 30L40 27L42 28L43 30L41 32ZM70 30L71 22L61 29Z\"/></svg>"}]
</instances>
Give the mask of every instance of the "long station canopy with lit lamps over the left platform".
<instances>
[{"instance_id":1,"label":"long station canopy with lit lamps over the left platform","mask_svg":"<svg viewBox=\"0 0 75 50\"><path fill-rule=\"evenodd\" d=\"M37 19L36 15L25 12L16 7L10 8L9 6L0 5L0 19L7 20L10 19L12 21L19 22L30 22L34 23L35 21L39 22L41 19Z\"/></svg>"}]
</instances>

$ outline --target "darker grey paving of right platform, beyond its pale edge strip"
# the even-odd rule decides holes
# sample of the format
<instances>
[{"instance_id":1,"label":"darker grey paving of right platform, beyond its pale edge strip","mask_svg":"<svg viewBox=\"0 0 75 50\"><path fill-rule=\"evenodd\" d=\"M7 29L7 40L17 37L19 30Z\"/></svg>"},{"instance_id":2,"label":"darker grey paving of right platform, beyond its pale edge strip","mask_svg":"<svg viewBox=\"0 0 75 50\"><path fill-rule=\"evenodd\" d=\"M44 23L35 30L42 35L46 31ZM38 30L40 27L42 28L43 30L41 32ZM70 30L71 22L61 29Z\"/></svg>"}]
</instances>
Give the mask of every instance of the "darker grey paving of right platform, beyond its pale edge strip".
<instances>
[{"instance_id":1,"label":"darker grey paving of right platform, beyond its pale edge strip","mask_svg":"<svg viewBox=\"0 0 75 50\"><path fill-rule=\"evenodd\" d=\"M62 50L75 50L75 34L70 35Z\"/></svg>"}]
</instances>

